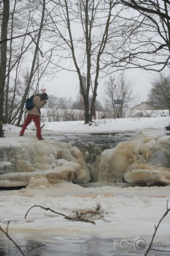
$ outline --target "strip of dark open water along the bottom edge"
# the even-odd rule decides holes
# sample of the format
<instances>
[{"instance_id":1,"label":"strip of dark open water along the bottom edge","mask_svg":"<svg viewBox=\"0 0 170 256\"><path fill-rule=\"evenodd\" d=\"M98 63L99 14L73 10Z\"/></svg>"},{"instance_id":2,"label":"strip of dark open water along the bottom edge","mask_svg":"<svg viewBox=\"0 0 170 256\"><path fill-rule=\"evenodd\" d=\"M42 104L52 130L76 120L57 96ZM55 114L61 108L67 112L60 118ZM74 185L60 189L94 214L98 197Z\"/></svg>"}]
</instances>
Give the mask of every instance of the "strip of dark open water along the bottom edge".
<instances>
[{"instance_id":1,"label":"strip of dark open water along the bottom edge","mask_svg":"<svg viewBox=\"0 0 170 256\"><path fill-rule=\"evenodd\" d=\"M49 237L46 242L35 242L31 240L17 240L25 256L143 256L146 248L135 246L133 238L57 238ZM40 239L39 239L40 240ZM44 240L44 238L42 238ZM48 241L48 242L47 242ZM130 242L129 242L130 241ZM156 250L149 251L148 256L170 255L168 242L155 243ZM169 251L169 252L165 252ZM0 256L20 256L22 253L9 240L1 237Z\"/></svg>"}]
</instances>

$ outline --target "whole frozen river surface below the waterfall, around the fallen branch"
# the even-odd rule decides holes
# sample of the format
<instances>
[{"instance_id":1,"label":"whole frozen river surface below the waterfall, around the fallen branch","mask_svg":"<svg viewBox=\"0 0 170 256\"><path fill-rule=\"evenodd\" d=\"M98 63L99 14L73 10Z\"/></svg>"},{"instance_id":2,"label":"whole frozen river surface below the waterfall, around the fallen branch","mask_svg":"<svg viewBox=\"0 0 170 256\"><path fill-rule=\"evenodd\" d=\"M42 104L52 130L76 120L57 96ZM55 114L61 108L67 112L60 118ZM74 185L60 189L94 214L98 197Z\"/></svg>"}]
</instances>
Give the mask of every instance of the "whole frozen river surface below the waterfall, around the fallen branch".
<instances>
[{"instance_id":1,"label":"whole frozen river surface below the waterfall, around the fallen branch","mask_svg":"<svg viewBox=\"0 0 170 256\"><path fill-rule=\"evenodd\" d=\"M144 256L154 224L158 224L166 209L169 188L90 183L79 189L77 185L71 185L69 196L65 195L66 189L62 187L51 191L40 190L39 193L30 189L1 191L1 208L5 206L3 200L11 204L11 212L7 212L7 208L3 210L6 219L2 220L2 226L6 230L7 219L11 220L9 235L25 256ZM78 205L80 208L86 204L92 206L94 197L100 197L103 209L115 211L113 216L95 220L96 225L64 220L50 213L45 215L42 209L30 211L27 223L22 218L33 204L46 206L47 200L51 200L48 204L50 208L55 209L56 205L59 207L61 204L58 212L65 209L66 214L68 208L69 212L74 209L74 205L76 208ZM161 213L158 212L160 208ZM166 252L170 251L168 223L169 216L160 225L160 232L154 240L152 249L156 251L151 250L148 256L170 255L170 252ZM0 256L20 255L19 249L1 232Z\"/></svg>"}]
</instances>

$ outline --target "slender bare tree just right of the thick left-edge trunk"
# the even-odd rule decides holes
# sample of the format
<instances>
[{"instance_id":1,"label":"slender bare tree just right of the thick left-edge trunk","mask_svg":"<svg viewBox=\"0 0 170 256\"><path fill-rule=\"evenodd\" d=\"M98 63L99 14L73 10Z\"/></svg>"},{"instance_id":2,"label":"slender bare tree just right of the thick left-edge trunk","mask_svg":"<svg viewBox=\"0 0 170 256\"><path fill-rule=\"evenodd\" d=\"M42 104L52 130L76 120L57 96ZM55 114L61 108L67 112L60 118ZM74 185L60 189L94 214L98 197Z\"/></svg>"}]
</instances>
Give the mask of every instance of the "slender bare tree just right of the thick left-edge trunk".
<instances>
[{"instance_id":1,"label":"slender bare tree just right of the thick left-edge trunk","mask_svg":"<svg viewBox=\"0 0 170 256\"><path fill-rule=\"evenodd\" d=\"M27 40L29 26L30 26L30 13L29 5L19 3L17 0L10 2L10 7L12 12L10 14L8 31L10 34L11 40L9 41L8 55L7 55L7 73L6 73L6 83L5 83L5 117L6 120L11 123L13 110L17 106L17 115L19 113L20 104L17 104L18 99L17 95L20 95L17 92L17 87L20 84L19 76L23 70L23 55L30 50L31 44L34 40L31 39L31 42ZM24 15L27 13L27 15ZM23 35L19 41L13 40L13 33L20 34L21 30L25 30L25 35ZM22 63L22 64L21 64ZM12 74L11 74L12 72ZM15 78L14 78L15 77ZM16 116L15 116L16 117Z\"/></svg>"}]
</instances>

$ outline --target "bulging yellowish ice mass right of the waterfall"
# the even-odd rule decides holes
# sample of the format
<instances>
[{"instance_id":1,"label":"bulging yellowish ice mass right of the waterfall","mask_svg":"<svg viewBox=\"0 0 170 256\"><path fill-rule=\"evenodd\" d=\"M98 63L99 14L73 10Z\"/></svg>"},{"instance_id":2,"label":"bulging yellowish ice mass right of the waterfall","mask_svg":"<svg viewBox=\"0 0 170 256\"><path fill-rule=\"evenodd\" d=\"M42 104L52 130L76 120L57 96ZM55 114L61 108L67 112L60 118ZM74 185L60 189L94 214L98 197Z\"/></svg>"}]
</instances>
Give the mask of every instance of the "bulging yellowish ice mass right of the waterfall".
<instances>
[{"instance_id":1,"label":"bulging yellowish ice mass right of the waterfall","mask_svg":"<svg viewBox=\"0 0 170 256\"><path fill-rule=\"evenodd\" d=\"M160 167L163 167L163 170ZM168 137L150 137L150 132L143 129L137 132L131 141L120 142L115 148L102 152L98 181L122 182L125 180L132 183L169 184L169 167Z\"/></svg>"}]
</instances>

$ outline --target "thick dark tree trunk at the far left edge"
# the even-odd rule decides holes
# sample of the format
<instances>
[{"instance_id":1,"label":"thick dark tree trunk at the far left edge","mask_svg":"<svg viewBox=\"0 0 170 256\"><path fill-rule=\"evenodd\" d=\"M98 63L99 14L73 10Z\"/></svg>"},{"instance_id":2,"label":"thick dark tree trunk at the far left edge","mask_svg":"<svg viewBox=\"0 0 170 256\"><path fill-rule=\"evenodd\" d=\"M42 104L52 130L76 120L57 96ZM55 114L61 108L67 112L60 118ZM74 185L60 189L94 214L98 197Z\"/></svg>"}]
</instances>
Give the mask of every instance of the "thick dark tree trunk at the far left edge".
<instances>
[{"instance_id":1,"label":"thick dark tree trunk at the far left edge","mask_svg":"<svg viewBox=\"0 0 170 256\"><path fill-rule=\"evenodd\" d=\"M9 21L9 0L3 0L3 13L2 13L2 24L1 24L1 40L7 38L7 27ZM4 87L5 87L5 74L6 74L6 51L7 42L1 43L0 45L0 137L4 135L2 131L3 124L3 106L4 106Z\"/></svg>"}]
</instances>

